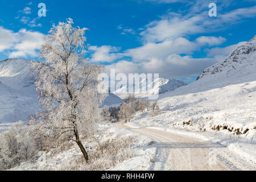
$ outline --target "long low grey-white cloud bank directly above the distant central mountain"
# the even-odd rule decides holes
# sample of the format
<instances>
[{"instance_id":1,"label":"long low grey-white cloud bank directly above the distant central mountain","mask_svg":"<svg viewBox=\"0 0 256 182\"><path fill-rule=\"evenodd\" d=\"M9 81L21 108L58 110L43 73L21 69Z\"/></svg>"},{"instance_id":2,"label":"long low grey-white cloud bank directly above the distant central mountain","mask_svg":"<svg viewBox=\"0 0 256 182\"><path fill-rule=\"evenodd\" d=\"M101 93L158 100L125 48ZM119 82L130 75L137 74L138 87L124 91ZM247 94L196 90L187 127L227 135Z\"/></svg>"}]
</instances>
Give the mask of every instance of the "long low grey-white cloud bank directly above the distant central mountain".
<instances>
[{"instance_id":1,"label":"long low grey-white cloud bank directly above the distant central mountain","mask_svg":"<svg viewBox=\"0 0 256 182\"><path fill-rule=\"evenodd\" d=\"M118 61L106 66L108 73L115 68L116 73L159 73L160 77L178 78L199 75L203 69L216 63L215 59L193 59L190 56L170 55L166 59L150 59L140 63Z\"/></svg>"}]
</instances>

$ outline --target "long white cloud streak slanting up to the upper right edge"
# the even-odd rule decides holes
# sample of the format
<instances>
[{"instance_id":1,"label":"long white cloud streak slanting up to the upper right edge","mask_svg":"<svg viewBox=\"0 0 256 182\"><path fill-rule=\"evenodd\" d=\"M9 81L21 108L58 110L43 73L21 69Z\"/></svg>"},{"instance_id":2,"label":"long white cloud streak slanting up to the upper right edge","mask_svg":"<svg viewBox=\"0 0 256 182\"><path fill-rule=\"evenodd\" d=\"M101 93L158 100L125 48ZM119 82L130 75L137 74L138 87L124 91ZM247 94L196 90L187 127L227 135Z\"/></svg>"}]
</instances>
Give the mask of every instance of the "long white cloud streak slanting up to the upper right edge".
<instances>
[{"instance_id":1,"label":"long white cloud streak slanting up to the upper right edge","mask_svg":"<svg viewBox=\"0 0 256 182\"><path fill-rule=\"evenodd\" d=\"M168 13L160 20L146 25L146 30L140 35L144 42L162 42L166 39L175 39L180 36L195 35L205 32L216 32L226 28L226 24L239 23L243 18L256 16L256 6L236 9L225 14L218 14L215 19L208 16L208 11L200 14L181 16L177 13Z\"/></svg>"}]
</instances>

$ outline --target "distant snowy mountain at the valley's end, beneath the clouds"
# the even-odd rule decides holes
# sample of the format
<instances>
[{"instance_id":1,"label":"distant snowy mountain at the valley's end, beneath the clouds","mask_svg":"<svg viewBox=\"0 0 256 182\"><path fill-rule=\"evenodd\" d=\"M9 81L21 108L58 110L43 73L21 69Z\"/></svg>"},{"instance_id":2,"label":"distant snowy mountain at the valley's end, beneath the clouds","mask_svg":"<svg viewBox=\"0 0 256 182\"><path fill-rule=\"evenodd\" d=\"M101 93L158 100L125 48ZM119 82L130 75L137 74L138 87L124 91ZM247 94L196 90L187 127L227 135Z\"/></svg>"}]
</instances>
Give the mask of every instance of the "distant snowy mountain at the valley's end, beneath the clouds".
<instances>
[{"instance_id":1,"label":"distant snowy mountain at the valley's end, beneath the clouds","mask_svg":"<svg viewBox=\"0 0 256 182\"><path fill-rule=\"evenodd\" d=\"M133 88L135 88L134 83L131 83L131 84L124 85L118 90L115 90L114 94L116 94L121 98L126 98L129 95L127 94L129 86L133 86ZM148 97L148 96L154 96L156 94L163 94L163 93L175 90L181 86L185 86L187 84L180 80L169 79L169 78L158 78L158 80L154 80L151 83L152 89L150 90L143 90L142 85L147 85L147 79L143 79L139 82L139 89L137 90L134 89L135 97Z\"/></svg>"}]
</instances>

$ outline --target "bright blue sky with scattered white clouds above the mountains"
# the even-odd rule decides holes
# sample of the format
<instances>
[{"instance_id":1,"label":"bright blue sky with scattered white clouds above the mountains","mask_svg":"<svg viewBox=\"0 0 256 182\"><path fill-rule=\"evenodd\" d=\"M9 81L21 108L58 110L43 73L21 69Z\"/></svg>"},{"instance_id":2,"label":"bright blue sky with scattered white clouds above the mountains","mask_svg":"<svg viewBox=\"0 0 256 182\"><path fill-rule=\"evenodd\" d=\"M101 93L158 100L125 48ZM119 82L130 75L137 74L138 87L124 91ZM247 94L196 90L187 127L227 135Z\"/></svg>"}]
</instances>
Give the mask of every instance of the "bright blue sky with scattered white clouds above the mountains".
<instances>
[{"instance_id":1,"label":"bright blue sky with scattered white clouds above the mountains","mask_svg":"<svg viewBox=\"0 0 256 182\"><path fill-rule=\"evenodd\" d=\"M46 17L38 4L46 4ZM217 5L210 17L209 3ZM92 63L123 73L159 73L188 83L256 34L256 1L0 2L0 59L37 59L52 23L72 18L89 28Z\"/></svg>"}]
</instances>

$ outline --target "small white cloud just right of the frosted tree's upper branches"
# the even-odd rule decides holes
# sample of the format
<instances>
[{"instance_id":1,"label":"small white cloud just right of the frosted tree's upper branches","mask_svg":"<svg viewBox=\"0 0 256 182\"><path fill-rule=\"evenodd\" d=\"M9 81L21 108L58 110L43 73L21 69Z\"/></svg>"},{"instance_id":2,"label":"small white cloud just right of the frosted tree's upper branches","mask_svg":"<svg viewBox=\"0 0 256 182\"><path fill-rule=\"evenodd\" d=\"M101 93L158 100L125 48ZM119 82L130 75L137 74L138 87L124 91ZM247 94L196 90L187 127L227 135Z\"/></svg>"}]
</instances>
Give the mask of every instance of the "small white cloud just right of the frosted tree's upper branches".
<instances>
[{"instance_id":1,"label":"small white cloud just right of the frosted tree's upper branches","mask_svg":"<svg viewBox=\"0 0 256 182\"><path fill-rule=\"evenodd\" d=\"M106 62L106 63L111 63L114 60L117 60L120 56L118 53L115 53L119 51L119 48L117 47L112 47L112 46L90 46L90 50L93 52L92 53L92 59L91 61L94 63L98 62Z\"/></svg>"}]
</instances>

